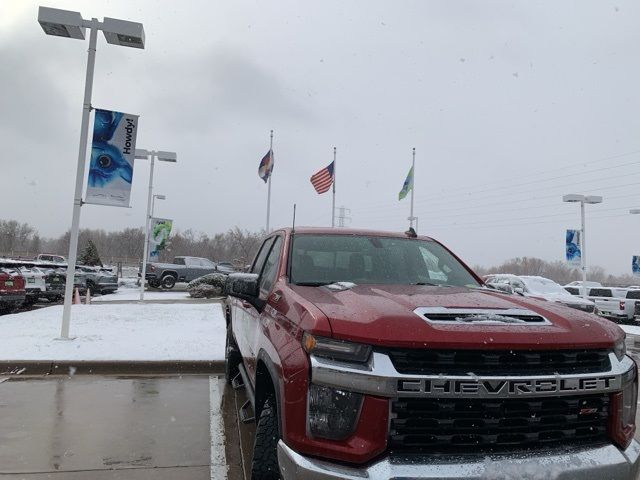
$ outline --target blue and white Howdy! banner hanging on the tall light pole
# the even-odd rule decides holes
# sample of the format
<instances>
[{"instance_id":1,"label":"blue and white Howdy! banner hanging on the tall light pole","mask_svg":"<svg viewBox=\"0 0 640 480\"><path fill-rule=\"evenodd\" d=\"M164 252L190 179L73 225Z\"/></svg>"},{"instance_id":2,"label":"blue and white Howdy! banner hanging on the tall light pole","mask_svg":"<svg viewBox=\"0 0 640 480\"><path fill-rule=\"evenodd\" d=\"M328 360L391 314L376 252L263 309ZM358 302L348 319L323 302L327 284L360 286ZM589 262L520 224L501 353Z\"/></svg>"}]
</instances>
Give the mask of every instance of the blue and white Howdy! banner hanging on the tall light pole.
<instances>
[{"instance_id":1,"label":"blue and white Howdy! banner hanging on the tall light pole","mask_svg":"<svg viewBox=\"0 0 640 480\"><path fill-rule=\"evenodd\" d=\"M129 207L138 115L95 110L85 203Z\"/></svg>"}]
</instances>

